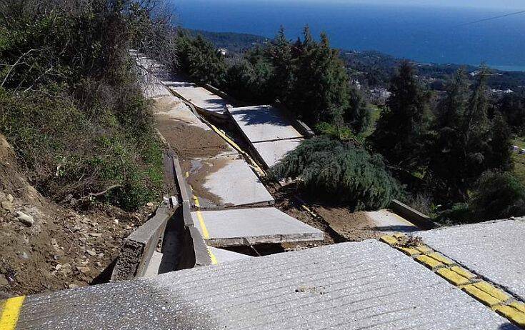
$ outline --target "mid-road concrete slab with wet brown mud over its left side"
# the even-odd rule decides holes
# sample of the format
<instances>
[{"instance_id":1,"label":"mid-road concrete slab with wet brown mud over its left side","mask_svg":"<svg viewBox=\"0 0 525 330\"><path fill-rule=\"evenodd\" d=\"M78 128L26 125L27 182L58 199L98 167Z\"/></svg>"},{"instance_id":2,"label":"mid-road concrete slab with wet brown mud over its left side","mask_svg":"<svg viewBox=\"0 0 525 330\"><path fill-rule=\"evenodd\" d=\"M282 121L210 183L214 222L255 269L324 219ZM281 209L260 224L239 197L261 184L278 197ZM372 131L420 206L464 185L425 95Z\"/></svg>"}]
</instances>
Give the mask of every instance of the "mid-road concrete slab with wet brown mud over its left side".
<instances>
[{"instance_id":1,"label":"mid-road concrete slab with wet brown mud over its left side","mask_svg":"<svg viewBox=\"0 0 525 330\"><path fill-rule=\"evenodd\" d=\"M183 171L188 172L188 184L201 209L275 204L259 177L239 156L195 159L190 164L191 168Z\"/></svg>"}]
</instances>

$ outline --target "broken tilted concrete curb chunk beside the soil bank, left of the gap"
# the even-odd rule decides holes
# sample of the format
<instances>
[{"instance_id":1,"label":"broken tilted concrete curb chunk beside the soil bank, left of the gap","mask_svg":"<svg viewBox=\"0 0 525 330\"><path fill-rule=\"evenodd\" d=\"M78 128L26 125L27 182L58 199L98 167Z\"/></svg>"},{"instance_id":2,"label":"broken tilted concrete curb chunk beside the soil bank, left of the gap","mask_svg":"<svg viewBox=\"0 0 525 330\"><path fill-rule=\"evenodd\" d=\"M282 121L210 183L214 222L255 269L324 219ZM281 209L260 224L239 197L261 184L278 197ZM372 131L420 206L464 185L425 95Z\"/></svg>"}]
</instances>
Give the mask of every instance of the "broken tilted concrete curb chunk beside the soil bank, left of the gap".
<instances>
[{"instance_id":1,"label":"broken tilted concrete curb chunk beside the soil bank, left of the gap","mask_svg":"<svg viewBox=\"0 0 525 330\"><path fill-rule=\"evenodd\" d=\"M161 204L154 216L124 239L119 260L111 274L111 281L144 276L159 240L164 237L166 224L172 214L168 205Z\"/></svg>"}]
</instances>

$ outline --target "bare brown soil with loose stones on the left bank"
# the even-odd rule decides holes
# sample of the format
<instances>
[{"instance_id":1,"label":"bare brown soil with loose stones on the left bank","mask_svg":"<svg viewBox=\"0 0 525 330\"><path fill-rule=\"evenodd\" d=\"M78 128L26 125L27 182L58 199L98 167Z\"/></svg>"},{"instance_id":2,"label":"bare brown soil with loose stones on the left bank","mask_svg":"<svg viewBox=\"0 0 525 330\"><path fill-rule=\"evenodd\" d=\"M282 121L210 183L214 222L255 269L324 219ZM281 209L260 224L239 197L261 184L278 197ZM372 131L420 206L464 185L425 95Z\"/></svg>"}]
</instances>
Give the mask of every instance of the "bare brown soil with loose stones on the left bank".
<instances>
[{"instance_id":1,"label":"bare brown soil with loose stones on the left bank","mask_svg":"<svg viewBox=\"0 0 525 330\"><path fill-rule=\"evenodd\" d=\"M123 239L144 223L151 206L129 213L54 204L28 184L0 135L0 299L106 281ZM19 211L34 223L20 221Z\"/></svg>"}]
</instances>

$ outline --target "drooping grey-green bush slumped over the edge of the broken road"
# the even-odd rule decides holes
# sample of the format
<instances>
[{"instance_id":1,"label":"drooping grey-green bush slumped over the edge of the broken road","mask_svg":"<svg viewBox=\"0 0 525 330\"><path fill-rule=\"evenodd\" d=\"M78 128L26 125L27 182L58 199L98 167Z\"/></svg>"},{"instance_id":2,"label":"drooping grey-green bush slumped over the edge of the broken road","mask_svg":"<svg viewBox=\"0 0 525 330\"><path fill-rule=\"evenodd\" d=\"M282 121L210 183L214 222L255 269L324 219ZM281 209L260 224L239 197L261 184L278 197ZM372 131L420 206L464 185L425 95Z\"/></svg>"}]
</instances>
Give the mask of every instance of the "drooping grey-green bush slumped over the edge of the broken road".
<instances>
[{"instance_id":1,"label":"drooping grey-green bush slumped over the edge of the broken road","mask_svg":"<svg viewBox=\"0 0 525 330\"><path fill-rule=\"evenodd\" d=\"M314 199L353 210L381 209L400 193L379 155L328 136L306 140L273 169L280 179L299 179Z\"/></svg>"}]
</instances>

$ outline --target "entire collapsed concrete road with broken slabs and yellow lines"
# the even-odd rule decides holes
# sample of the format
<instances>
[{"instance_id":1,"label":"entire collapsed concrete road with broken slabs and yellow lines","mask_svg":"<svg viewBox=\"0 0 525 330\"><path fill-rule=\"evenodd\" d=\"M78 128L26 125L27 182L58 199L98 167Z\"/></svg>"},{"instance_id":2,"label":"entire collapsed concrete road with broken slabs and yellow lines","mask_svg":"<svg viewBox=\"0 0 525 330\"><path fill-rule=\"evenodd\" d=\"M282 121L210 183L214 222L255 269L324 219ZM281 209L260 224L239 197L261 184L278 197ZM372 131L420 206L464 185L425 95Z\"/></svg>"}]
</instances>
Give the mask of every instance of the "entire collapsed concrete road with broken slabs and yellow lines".
<instances>
[{"instance_id":1,"label":"entire collapsed concrete road with broken slabs and yellow lines","mask_svg":"<svg viewBox=\"0 0 525 330\"><path fill-rule=\"evenodd\" d=\"M144 92L172 149L165 164L174 196L128 238L113 283L1 301L0 329L525 326L525 264L516 253L525 219L418 231L380 210L368 216L391 234L381 241L257 258L231 251L323 240L274 207L264 183L264 169L309 132L274 106L229 107L136 56L154 73ZM248 152L202 119L207 112L239 129Z\"/></svg>"}]
</instances>

